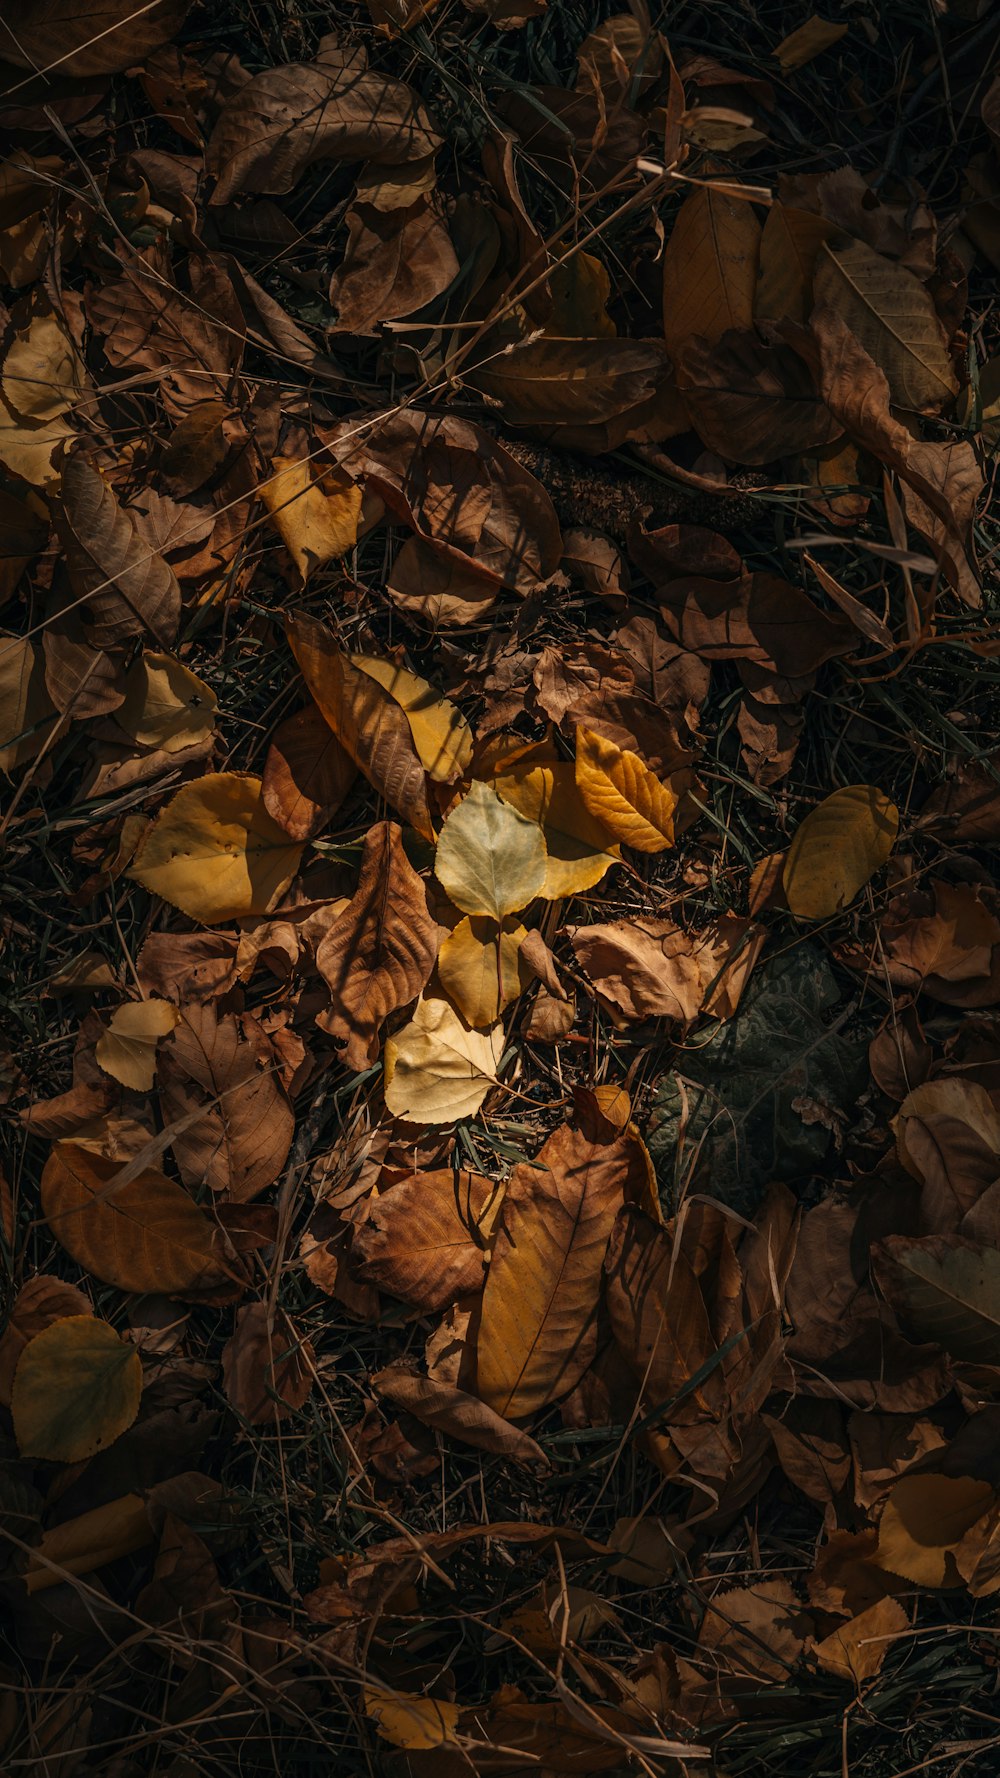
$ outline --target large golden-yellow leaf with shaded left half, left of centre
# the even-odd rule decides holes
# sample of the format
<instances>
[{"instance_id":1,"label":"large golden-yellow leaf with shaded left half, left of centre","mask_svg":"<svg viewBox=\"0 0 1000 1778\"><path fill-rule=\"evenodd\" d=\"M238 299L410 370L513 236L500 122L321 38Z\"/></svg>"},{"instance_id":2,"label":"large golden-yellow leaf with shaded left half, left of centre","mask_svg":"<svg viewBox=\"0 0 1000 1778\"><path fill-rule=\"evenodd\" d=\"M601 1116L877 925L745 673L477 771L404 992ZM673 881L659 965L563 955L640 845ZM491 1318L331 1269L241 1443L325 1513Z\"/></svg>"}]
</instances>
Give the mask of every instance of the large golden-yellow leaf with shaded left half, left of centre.
<instances>
[{"instance_id":1,"label":"large golden-yellow leaf with shaded left half, left of centre","mask_svg":"<svg viewBox=\"0 0 1000 1778\"><path fill-rule=\"evenodd\" d=\"M267 914L299 868L302 846L263 807L260 779L208 772L185 784L146 829L128 875L181 914Z\"/></svg>"}]
</instances>

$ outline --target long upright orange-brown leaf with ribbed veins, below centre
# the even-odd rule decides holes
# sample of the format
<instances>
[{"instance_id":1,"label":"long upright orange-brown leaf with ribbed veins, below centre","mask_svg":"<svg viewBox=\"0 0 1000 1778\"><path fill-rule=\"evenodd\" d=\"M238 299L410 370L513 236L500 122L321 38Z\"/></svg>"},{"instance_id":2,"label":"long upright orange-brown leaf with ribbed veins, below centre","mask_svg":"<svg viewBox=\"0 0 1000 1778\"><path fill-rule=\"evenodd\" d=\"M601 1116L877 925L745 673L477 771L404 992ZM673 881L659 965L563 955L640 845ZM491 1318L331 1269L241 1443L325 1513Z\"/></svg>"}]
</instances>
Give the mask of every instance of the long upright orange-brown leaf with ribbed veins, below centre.
<instances>
[{"instance_id":1,"label":"long upright orange-brown leaf with ribbed veins, below centre","mask_svg":"<svg viewBox=\"0 0 1000 1778\"><path fill-rule=\"evenodd\" d=\"M594 1355L601 1264L637 1147L564 1124L511 1173L477 1339L477 1390L505 1419L568 1394Z\"/></svg>"}]
</instances>

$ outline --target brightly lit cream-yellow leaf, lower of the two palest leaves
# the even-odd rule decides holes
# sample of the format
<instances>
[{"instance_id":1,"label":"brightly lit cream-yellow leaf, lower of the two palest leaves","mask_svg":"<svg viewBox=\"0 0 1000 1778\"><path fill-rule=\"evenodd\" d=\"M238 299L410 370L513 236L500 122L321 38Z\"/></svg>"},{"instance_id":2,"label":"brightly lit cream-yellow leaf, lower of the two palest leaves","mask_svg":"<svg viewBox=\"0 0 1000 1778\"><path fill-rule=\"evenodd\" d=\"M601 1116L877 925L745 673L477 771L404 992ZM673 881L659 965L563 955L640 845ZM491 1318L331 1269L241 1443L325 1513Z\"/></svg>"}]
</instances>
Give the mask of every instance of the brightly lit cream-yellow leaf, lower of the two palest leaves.
<instances>
[{"instance_id":1,"label":"brightly lit cream-yellow leaf, lower of the two palest leaves","mask_svg":"<svg viewBox=\"0 0 1000 1778\"><path fill-rule=\"evenodd\" d=\"M448 1001L418 999L409 1024L386 1042L386 1106L407 1124L475 1117L502 1054L502 1026L470 1031Z\"/></svg>"}]
</instances>

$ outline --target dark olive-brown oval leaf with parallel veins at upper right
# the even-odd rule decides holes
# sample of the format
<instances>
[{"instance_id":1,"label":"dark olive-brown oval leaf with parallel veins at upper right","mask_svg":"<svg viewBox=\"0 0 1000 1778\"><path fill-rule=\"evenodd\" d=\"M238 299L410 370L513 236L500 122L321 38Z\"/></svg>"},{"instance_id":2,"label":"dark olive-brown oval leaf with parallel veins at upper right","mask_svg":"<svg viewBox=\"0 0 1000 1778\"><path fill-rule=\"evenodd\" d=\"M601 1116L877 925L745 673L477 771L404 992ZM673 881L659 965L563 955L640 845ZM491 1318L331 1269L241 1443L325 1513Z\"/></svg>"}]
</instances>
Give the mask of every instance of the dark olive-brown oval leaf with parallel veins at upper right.
<instances>
[{"instance_id":1,"label":"dark olive-brown oval leaf with parallel veins at upper right","mask_svg":"<svg viewBox=\"0 0 1000 1778\"><path fill-rule=\"evenodd\" d=\"M931 293L904 265L884 260L861 240L824 242L815 295L847 322L886 373L900 407L938 412L957 395L959 382Z\"/></svg>"}]
</instances>

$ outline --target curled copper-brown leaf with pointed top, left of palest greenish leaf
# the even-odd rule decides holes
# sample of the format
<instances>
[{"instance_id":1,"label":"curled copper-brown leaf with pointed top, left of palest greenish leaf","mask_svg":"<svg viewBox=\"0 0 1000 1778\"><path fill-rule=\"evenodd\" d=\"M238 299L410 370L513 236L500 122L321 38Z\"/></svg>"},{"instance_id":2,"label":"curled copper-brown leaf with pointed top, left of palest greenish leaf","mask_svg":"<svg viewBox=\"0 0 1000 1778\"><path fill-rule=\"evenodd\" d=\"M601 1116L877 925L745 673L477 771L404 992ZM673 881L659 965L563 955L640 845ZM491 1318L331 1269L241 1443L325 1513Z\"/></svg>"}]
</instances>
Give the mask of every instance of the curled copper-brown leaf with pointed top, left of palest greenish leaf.
<instances>
[{"instance_id":1,"label":"curled copper-brown leaf with pointed top, left of palest greenish leaf","mask_svg":"<svg viewBox=\"0 0 1000 1778\"><path fill-rule=\"evenodd\" d=\"M438 955L438 925L402 848L402 829L377 821L365 841L358 889L317 949L333 1003L319 1022L345 1042L361 1072L379 1054L379 1026L416 999Z\"/></svg>"}]
</instances>

